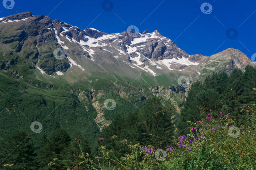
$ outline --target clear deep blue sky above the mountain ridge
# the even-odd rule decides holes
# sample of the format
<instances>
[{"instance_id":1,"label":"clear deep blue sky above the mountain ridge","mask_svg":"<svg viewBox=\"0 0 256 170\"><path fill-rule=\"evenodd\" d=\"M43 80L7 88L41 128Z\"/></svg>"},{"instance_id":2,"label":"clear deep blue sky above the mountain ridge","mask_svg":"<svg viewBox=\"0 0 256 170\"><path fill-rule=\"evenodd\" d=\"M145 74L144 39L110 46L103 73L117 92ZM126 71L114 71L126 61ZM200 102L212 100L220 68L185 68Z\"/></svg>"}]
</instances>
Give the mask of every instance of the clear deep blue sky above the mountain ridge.
<instances>
[{"instance_id":1,"label":"clear deep blue sky above the mountain ridge","mask_svg":"<svg viewBox=\"0 0 256 170\"><path fill-rule=\"evenodd\" d=\"M158 30L188 54L210 56L227 48L239 49L249 58L256 53L256 1L253 0L111 0L113 9L109 12L102 9L103 0L14 2L13 9L1 5L0 17L31 11L33 15L48 15L52 20L80 29L92 27L106 33L123 32L135 25L142 32ZM210 14L200 9L205 2L212 6ZM235 39L227 37L229 28L237 30ZM231 31L230 37L233 34Z\"/></svg>"}]
</instances>

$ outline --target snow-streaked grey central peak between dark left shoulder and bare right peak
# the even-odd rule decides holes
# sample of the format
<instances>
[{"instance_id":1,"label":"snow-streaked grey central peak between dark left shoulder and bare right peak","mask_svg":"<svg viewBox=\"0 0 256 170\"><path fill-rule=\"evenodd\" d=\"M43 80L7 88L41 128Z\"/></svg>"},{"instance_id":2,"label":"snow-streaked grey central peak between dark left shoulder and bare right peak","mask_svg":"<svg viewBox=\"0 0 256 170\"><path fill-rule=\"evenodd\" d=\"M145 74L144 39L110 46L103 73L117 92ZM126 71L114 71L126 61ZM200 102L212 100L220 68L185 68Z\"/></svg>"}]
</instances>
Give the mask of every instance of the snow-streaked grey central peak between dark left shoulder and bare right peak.
<instances>
[{"instance_id":1,"label":"snow-streaked grey central peak between dark left shoulder and bare right peak","mask_svg":"<svg viewBox=\"0 0 256 170\"><path fill-rule=\"evenodd\" d=\"M83 56L92 61L97 60L99 56L107 55L110 59L124 62L133 69L146 71L152 75L161 74L162 71L159 69L181 71L208 58L199 54L187 54L157 30L151 33L146 30L131 36L127 31L107 34L94 28L80 30L58 20L52 23L53 26L49 29L54 30L58 43L67 54L70 50L68 46L75 43L76 48L85 52Z\"/></svg>"}]
</instances>

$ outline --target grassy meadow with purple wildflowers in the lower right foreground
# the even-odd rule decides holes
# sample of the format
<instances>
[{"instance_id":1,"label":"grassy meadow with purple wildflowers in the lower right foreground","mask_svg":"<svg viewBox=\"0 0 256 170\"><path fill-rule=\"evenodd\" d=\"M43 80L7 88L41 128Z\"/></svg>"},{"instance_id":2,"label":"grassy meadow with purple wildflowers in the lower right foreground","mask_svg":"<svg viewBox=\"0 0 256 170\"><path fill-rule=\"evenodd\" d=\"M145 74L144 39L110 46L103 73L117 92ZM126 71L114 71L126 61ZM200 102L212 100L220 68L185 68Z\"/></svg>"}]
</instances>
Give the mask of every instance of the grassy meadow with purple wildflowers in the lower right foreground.
<instances>
[{"instance_id":1,"label":"grassy meadow with purple wildflowers in the lower right foreground","mask_svg":"<svg viewBox=\"0 0 256 170\"><path fill-rule=\"evenodd\" d=\"M223 105L223 108L226 106ZM242 106L239 106L240 108ZM256 169L256 106L248 105L243 119L229 116L228 110L223 109L221 116L217 112L211 112L210 121L205 117L208 112L202 112L200 123L190 122L189 128L196 128L185 136L177 135L166 149L157 144L126 144L130 154L116 157L113 150L107 150L101 145L98 150L100 155L85 156L80 150L83 162L74 162L80 169L120 169L120 170L149 170L149 169ZM219 119L221 117L221 119ZM236 130L229 133L231 127L238 127L240 133L234 136ZM158 138L152 135L154 138ZM236 138L237 137L237 138ZM115 136L111 139L115 141ZM178 140L179 139L179 140ZM159 140L161 140L159 138ZM189 144L191 142L191 144ZM186 147L180 147L186 145ZM78 143L80 146L80 143ZM143 148L143 145L144 148ZM149 147L154 150L145 151ZM80 147L81 148L81 147ZM163 152L160 152L161 149ZM165 151L167 152L165 153ZM156 152L160 152L159 155ZM58 163L60 160L55 160ZM54 166L54 165L52 165ZM70 167L75 170L75 166Z\"/></svg>"}]
</instances>

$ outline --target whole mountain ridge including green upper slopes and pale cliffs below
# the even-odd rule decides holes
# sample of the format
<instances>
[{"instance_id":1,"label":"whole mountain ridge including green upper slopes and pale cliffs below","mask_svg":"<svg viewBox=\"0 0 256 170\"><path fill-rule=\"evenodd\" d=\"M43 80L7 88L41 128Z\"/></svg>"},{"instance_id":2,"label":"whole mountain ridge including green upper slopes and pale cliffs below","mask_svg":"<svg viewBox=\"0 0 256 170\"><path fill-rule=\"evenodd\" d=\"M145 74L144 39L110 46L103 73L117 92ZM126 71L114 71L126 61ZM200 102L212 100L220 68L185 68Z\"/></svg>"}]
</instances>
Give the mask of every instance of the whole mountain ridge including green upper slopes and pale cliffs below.
<instances>
[{"instance_id":1,"label":"whole mountain ridge including green upper slopes and pale cliffs below","mask_svg":"<svg viewBox=\"0 0 256 170\"><path fill-rule=\"evenodd\" d=\"M61 60L54 57L57 48L64 51ZM39 80L49 84L54 82L52 79L86 84L90 94L82 92L79 99L84 97L85 103L95 108L95 122L100 127L111 122L104 118L104 105L99 103L106 91L131 103L161 96L172 99L178 107L188 89L178 86L181 75L193 82L211 72L230 73L246 65L254 63L237 49L229 48L210 57L187 54L157 30L107 34L30 12L0 18L0 71L29 83L39 79L41 73ZM94 82L95 77L101 79ZM105 91L102 88L110 84L104 79L113 81Z\"/></svg>"}]
</instances>

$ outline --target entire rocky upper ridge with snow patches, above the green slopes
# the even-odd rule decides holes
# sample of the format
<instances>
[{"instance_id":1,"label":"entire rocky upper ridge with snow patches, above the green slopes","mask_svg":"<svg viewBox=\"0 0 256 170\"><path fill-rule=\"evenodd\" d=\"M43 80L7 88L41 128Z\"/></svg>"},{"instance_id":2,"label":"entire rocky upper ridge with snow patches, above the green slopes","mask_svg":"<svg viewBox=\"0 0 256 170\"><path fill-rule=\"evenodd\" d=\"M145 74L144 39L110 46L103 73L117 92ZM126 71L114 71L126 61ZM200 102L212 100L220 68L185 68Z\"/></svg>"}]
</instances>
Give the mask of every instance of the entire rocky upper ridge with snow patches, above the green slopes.
<instances>
[{"instance_id":1,"label":"entire rocky upper ridge with snow patches, above the green slopes","mask_svg":"<svg viewBox=\"0 0 256 170\"><path fill-rule=\"evenodd\" d=\"M248 64L253 65L245 54L232 48L211 57L189 55L157 30L151 33L147 30L143 33L131 33L124 31L107 34L94 28L81 30L58 20L51 21L47 16L33 16L30 12L0 20L3 57L12 51L20 52L32 65L49 75L57 71L67 71L72 65L85 71L84 67L88 64L99 65L103 58L108 64L126 65L126 69L145 71L153 76L173 70L194 70L200 73L216 67L219 70L231 71L234 68L244 69ZM10 48L10 44L14 49ZM66 57L61 61L53 57L52 52L56 48L65 51ZM8 69L17 57L14 55L13 59L1 62L0 68ZM103 67L107 72L112 69L107 68L107 65Z\"/></svg>"}]
</instances>

